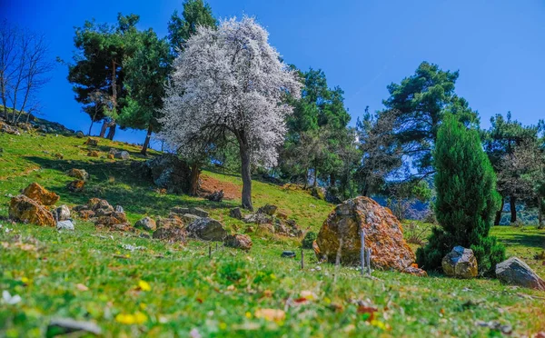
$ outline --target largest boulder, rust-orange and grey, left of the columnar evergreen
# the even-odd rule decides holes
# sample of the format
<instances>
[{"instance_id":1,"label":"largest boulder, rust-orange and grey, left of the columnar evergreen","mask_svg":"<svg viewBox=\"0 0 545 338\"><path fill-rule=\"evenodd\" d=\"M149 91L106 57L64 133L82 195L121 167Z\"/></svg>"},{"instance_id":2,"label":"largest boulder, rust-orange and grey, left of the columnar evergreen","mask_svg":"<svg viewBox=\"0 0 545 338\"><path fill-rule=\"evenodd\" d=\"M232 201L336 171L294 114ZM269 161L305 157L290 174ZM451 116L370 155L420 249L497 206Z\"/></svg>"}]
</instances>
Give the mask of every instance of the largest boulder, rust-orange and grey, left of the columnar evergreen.
<instances>
[{"instance_id":1,"label":"largest boulder, rust-orange and grey, left of the columnar evergreen","mask_svg":"<svg viewBox=\"0 0 545 338\"><path fill-rule=\"evenodd\" d=\"M318 258L334 263L342 240L341 262L360 263L361 229L365 231L366 248L372 250L374 269L403 271L414 262L398 219L363 196L337 205L329 214L316 238Z\"/></svg>"}]
</instances>

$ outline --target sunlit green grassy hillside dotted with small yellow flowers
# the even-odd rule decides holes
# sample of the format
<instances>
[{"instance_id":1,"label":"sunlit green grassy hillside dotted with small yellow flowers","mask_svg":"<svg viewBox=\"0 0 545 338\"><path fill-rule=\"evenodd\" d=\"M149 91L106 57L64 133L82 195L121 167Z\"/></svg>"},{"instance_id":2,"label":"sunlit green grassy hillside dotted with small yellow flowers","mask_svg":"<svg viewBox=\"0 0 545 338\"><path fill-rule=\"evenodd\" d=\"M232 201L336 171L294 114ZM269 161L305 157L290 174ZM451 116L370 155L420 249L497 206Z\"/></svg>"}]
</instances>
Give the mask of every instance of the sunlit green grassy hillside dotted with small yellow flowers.
<instances>
[{"instance_id":1,"label":"sunlit green grassy hillside dotted with small yellow flowers","mask_svg":"<svg viewBox=\"0 0 545 338\"><path fill-rule=\"evenodd\" d=\"M160 194L132 174L129 162L88 157L83 143L54 134L0 134L0 291L22 297L14 305L0 304L0 336L44 336L56 317L97 323L107 337L488 336L510 329L531 336L545 330L545 293L440 275L373 272L376 279L362 278L351 267L335 271L317 264L312 251L304 252L302 270L299 260L280 258L283 250L299 250L299 241L274 235L251 234L248 254L213 246L209 258L208 244L197 241L164 244L97 231L85 222L70 233L8 223L9 194L37 182L59 194L59 204L83 204L91 197L121 204L132 223L191 205L209 210L229 231L243 233L245 224L228 216L239 200L214 204ZM144 160L130 144L101 139L98 148L104 155L110 148L124 149ZM65 189L72 179L64 173L71 168L91 174L84 193ZM242 186L237 175L203 175ZM313 231L333 207L300 190L259 181L253 183L253 199L256 206L278 205ZM545 266L533 259L545 250L545 232L497 227L493 234L508 254L545 275ZM126 244L140 248L130 251ZM276 318L267 318L263 309L278 310ZM494 323L482 324L489 322Z\"/></svg>"}]
</instances>

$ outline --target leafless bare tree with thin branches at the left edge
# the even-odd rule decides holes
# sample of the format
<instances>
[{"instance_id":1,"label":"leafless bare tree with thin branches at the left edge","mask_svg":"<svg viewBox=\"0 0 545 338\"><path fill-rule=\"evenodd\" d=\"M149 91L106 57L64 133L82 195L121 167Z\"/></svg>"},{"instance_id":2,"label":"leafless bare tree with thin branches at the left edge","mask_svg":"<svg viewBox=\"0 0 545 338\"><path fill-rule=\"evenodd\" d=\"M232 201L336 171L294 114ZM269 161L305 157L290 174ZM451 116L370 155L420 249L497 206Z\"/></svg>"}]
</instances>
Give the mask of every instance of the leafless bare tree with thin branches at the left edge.
<instances>
[{"instance_id":1,"label":"leafless bare tree with thin branches at the left edge","mask_svg":"<svg viewBox=\"0 0 545 338\"><path fill-rule=\"evenodd\" d=\"M19 122L25 108L35 110L36 92L49 81L47 73L53 67L48 58L44 35L10 25L6 20L0 25L0 90L4 114L12 124ZM11 105L11 119L7 104ZM27 112L28 113L28 112Z\"/></svg>"}]
</instances>

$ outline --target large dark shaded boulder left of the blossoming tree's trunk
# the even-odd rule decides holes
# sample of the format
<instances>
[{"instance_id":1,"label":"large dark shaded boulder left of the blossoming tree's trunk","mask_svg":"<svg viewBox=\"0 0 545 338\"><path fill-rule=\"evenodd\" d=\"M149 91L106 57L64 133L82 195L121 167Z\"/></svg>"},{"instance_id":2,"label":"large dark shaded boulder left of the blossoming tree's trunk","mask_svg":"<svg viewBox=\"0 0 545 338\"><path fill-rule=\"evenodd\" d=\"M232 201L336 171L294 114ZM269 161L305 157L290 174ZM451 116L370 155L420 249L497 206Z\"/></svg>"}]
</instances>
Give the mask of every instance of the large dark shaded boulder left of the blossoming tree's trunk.
<instances>
[{"instance_id":1,"label":"large dark shaded boulder left of the blossoming tree's trunk","mask_svg":"<svg viewBox=\"0 0 545 338\"><path fill-rule=\"evenodd\" d=\"M175 194L189 191L191 169L174 154L162 154L144 162L140 172L159 188L168 189Z\"/></svg>"}]
</instances>

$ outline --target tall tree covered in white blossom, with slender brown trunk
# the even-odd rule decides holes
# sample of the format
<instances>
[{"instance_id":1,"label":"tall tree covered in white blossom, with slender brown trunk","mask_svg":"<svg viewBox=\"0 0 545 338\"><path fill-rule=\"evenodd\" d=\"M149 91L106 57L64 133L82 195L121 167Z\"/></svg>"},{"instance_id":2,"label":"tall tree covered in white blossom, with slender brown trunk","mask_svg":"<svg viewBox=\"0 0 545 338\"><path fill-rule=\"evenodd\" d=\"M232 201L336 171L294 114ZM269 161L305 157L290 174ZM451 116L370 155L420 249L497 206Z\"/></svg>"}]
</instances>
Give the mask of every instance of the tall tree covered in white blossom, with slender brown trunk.
<instances>
[{"instance_id":1,"label":"tall tree covered in white blossom, with slender brown trunk","mask_svg":"<svg viewBox=\"0 0 545 338\"><path fill-rule=\"evenodd\" d=\"M268 43L253 18L199 27L174 61L164 100L163 139L194 158L236 140L241 156L243 207L252 210L251 164L274 165L301 83Z\"/></svg>"}]
</instances>

